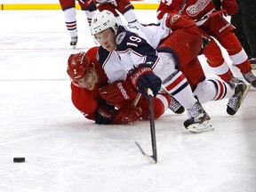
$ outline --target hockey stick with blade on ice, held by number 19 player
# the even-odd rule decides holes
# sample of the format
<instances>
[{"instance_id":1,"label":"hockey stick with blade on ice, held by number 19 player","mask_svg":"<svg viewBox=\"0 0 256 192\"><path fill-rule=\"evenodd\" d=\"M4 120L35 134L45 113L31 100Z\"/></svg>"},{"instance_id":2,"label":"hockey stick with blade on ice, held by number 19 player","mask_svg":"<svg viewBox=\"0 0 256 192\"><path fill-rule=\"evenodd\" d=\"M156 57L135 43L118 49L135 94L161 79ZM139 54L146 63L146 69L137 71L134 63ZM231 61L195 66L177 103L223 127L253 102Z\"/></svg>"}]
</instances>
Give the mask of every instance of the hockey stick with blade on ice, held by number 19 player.
<instances>
[{"instance_id":1,"label":"hockey stick with blade on ice, held by number 19 player","mask_svg":"<svg viewBox=\"0 0 256 192\"><path fill-rule=\"evenodd\" d=\"M151 144L152 144L152 156L146 154L144 150L140 147L140 144L135 141L138 148L140 148L140 152L144 156L148 156L154 160L154 163L157 163L157 151L156 151L156 129L155 129L155 116L154 116L154 102L153 102L153 92L148 89L149 96L149 123L150 123L150 134L151 134Z\"/></svg>"}]
</instances>

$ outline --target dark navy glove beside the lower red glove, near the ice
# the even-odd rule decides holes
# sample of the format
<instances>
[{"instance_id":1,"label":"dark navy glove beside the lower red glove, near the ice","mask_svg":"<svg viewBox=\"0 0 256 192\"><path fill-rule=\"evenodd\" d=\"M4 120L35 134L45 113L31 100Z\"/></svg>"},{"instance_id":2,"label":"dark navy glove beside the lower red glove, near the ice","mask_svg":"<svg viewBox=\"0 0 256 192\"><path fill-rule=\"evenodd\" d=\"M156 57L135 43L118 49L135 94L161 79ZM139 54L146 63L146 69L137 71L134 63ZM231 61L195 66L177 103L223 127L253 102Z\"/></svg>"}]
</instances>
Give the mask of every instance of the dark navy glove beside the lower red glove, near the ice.
<instances>
[{"instance_id":1,"label":"dark navy glove beside the lower red glove, near the ice","mask_svg":"<svg viewBox=\"0 0 256 192\"><path fill-rule=\"evenodd\" d=\"M108 103L101 103L97 111L94 113L96 124L112 124L115 116L115 106Z\"/></svg>"}]
</instances>

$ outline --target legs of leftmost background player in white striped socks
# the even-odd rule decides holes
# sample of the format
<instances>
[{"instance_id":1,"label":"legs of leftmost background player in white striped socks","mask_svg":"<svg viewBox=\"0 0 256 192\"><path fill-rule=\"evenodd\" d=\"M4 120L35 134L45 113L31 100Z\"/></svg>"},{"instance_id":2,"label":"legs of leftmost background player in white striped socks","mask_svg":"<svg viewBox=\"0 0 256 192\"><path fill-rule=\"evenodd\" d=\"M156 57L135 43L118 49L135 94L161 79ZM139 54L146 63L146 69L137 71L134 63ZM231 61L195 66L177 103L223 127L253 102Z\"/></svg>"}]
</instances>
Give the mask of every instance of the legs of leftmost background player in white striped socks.
<instances>
[{"instance_id":1,"label":"legs of leftmost background player in white striped socks","mask_svg":"<svg viewBox=\"0 0 256 192\"><path fill-rule=\"evenodd\" d=\"M59 0L61 9L64 13L66 27L71 38L70 45L75 49L78 36L76 28L76 0ZM91 25L92 16L97 11L96 4L92 0L78 0L81 10L84 11L89 26Z\"/></svg>"}]
</instances>

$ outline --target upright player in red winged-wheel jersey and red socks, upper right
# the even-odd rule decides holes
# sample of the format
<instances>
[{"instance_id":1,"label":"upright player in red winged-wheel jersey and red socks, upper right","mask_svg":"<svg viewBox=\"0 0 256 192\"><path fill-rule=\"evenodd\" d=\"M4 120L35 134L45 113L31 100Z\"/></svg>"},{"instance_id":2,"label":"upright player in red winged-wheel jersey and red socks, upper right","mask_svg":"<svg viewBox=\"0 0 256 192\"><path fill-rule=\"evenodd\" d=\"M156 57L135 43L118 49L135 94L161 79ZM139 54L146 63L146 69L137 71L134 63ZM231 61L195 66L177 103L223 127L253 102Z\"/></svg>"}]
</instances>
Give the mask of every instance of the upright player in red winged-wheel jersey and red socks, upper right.
<instances>
[{"instance_id":1,"label":"upright player in red winged-wheel jersey and red socks, upper right","mask_svg":"<svg viewBox=\"0 0 256 192\"><path fill-rule=\"evenodd\" d=\"M221 6L227 10L228 15L234 14L238 9L236 0L221 0ZM228 68L219 45L211 37L213 36L227 50L233 65L240 69L244 79L252 84L253 87L256 87L256 77L252 74L250 60L244 52L244 48L237 40L233 32L233 26L220 14L211 17L212 12L216 12L216 10L211 0L162 0L157 10L157 18L161 20L165 13L182 14L191 20L200 20L210 15L209 19L196 22L203 35L211 38L210 44L204 48L203 52L208 64L224 81L236 84L239 82Z\"/></svg>"}]
</instances>

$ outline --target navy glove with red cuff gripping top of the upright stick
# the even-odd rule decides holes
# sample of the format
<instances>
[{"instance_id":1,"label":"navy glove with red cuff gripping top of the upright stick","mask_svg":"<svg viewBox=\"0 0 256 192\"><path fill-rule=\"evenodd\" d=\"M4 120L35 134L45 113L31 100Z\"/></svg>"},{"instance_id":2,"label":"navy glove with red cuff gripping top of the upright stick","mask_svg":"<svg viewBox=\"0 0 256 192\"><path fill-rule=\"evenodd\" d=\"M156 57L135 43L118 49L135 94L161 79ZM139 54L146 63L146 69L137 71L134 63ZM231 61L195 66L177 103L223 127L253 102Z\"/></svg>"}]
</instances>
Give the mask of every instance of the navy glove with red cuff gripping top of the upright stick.
<instances>
[{"instance_id":1,"label":"navy glove with red cuff gripping top of the upright stick","mask_svg":"<svg viewBox=\"0 0 256 192\"><path fill-rule=\"evenodd\" d=\"M144 98L148 98L148 88L156 97L162 84L162 80L153 73L152 68L149 68L147 64L140 64L138 68L133 68L131 80L132 85L138 89Z\"/></svg>"}]
</instances>

